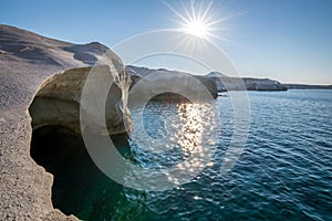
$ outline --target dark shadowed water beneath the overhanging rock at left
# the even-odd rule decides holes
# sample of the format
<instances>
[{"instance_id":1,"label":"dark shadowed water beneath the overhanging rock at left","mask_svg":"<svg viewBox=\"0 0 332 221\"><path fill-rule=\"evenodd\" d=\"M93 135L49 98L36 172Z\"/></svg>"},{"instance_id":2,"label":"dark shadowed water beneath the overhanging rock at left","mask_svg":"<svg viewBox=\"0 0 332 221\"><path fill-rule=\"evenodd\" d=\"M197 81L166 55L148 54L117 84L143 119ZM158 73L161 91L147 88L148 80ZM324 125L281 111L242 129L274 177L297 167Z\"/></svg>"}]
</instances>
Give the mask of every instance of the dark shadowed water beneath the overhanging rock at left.
<instances>
[{"instance_id":1,"label":"dark shadowed water beneath the overhanging rock at left","mask_svg":"<svg viewBox=\"0 0 332 221\"><path fill-rule=\"evenodd\" d=\"M123 156L129 155L126 135L111 137ZM127 215L131 204L123 186L112 181L93 162L82 136L64 126L33 130L31 156L54 176L53 207L83 220L113 220ZM136 210L141 204L131 204ZM122 208L122 209L120 209Z\"/></svg>"}]
</instances>

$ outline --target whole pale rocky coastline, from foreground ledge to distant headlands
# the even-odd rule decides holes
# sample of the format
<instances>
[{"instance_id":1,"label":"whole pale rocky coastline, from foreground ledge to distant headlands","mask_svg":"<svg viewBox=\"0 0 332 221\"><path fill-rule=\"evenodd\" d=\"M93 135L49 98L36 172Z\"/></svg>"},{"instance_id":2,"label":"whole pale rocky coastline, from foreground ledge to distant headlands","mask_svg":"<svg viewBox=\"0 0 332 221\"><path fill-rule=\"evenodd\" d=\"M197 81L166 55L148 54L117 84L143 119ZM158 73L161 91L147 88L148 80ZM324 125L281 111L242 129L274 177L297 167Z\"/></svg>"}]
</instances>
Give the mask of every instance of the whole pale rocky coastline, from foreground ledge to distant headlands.
<instances>
[{"instance_id":1,"label":"whole pale rocky coastline, from foreground ledge to distant headlands","mask_svg":"<svg viewBox=\"0 0 332 221\"><path fill-rule=\"evenodd\" d=\"M110 57L96 69L104 70L106 76L118 83L111 90L106 122L108 134L121 134L125 131L124 124L131 125L126 109L129 86L151 72L167 73L154 81L160 85L163 82L168 84L176 78L172 78L176 72L127 66L133 81L131 84L126 72L107 69L107 64L123 64L105 45L97 42L72 44L0 25L0 220L77 220L53 208L53 176L32 159L31 137L33 129L45 126L64 126L74 134L80 133L82 85L91 65L106 52ZM243 90L238 87L240 81L249 91L308 88L268 78L227 77L218 73L194 77L214 97L218 96L218 92ZM186 78L176 80L181 82ZM198 93L195 88L190 90L190 93ZM122 122L124 118L127 122Z\"/></svg>"}]
</instances>

